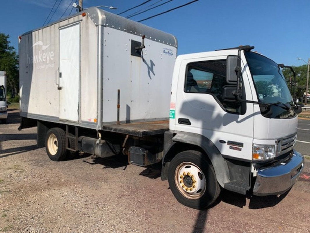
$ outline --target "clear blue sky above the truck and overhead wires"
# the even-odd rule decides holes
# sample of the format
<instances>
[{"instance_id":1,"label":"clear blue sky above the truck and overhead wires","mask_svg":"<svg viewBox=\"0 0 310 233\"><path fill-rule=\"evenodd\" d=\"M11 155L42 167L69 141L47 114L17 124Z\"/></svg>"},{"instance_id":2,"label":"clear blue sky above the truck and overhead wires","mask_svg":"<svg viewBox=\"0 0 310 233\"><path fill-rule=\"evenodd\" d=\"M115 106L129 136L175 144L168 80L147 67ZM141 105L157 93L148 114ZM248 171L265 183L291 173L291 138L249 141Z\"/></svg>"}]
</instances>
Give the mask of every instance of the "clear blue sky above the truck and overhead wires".
<instances>
[{"instance_id":1,"label":"clear blue sky above the truck and overhead wires","mask_svg":"<svg viewBox=\"0 0 310 233\"><path fill-rule=\"evenodd\" d=\"M144 1L84 0L84 7L112 5L118 9L108 11L119 13ZM122 16L128 16L157 1L151 0ZM173 0L131 19L138 21L190 1ZM51 22L60 18L70 2L61 0ZM157 4L162 2L166 0ZM0 32L10 34L11 45L17 50L18 35L41 27L54 3L55 0L2 1ZM71 9L70 6L65 16L69 15ZM309 19L309 0L199 0L143 23L174 34L179 42L178 54L249 44L277 63L298 66L304 63L296 57L306 61L310 57Z\"/></svg>"}]
</instances>

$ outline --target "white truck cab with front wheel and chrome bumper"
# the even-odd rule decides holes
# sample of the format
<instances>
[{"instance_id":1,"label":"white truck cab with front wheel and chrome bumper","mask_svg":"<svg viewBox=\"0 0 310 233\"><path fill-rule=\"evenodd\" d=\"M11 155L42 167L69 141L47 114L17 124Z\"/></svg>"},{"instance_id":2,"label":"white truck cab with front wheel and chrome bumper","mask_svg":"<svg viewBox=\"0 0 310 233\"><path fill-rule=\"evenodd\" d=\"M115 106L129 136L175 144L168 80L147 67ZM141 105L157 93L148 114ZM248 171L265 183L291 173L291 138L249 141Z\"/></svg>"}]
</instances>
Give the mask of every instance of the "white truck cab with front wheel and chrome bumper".
<instances>
[{"instance_id":1,"label":"white truck cab with front wheel and chrome bumper","mask_svg":"<svg viewBox=\"0 0 310 233\"><path fill-rule=\"evenodd\" d=\"M192 208L214 202L219 186L282 194L303 169L293 149L300 107L280 66L250 50L176 58L163 171L175 197Z\"/></svg>"}]
</instances>

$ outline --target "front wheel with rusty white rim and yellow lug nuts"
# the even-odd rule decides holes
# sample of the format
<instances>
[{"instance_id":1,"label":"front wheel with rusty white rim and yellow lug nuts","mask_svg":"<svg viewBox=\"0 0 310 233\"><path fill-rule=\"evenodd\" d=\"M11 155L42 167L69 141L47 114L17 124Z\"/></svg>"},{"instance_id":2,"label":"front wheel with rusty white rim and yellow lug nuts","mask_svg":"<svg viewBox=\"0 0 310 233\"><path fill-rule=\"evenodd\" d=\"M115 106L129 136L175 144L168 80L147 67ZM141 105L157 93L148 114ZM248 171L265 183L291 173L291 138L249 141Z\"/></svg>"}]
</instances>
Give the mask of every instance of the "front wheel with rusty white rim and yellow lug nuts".
<instances>
[{"instance_id":1,"label":"front wheel with rusty white rim and yellow lug nuts","mask_svg":"<svg viewBox=\"0 0 310 233\"><path fill-rule=\"evenodd\" d=\"M204 209L218 198L220 187L206 154L188 150L170 162L169 186L175 198L185 206Z\"/></svg>"}]
</instances>

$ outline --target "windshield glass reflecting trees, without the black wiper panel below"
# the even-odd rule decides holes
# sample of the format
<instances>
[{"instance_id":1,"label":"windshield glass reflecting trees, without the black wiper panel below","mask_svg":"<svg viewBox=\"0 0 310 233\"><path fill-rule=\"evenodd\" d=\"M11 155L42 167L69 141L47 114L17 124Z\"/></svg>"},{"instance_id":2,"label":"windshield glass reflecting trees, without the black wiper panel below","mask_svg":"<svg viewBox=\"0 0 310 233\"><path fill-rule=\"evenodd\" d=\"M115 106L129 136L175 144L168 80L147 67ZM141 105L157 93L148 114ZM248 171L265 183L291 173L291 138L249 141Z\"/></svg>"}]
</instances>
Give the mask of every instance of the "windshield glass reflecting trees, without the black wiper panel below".
<instances>
[{"instance_id":1,"label":"windshield glass reflecting trees, without the black wiper panel below","mask_svg":"<svg viewBox=\"0 0 310 233\"><path fill-rule=\"evenodd\" d=\"M290 90L277 63L258 53L246 52L245 55L258 100L265 103L293 104Z\"/></svg>"}]
</instances>

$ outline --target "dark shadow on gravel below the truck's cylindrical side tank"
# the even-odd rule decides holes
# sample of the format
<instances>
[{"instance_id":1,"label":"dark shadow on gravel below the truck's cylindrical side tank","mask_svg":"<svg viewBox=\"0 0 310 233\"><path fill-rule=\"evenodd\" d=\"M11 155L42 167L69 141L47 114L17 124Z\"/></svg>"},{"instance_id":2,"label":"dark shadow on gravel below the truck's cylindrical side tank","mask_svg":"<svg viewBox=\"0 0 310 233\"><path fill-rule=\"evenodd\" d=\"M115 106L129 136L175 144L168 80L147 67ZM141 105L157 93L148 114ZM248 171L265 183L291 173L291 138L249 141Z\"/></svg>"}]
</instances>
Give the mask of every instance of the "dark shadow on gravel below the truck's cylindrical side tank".
<instances>
[{"instance_id":1,"label":"dark shadow on gravel below the truck's cylindrical side tank","mask_svg":"<svg viewBox=\"0 0 310 233\"><path fill-rule=\"evenodd\" d=\"M101 164L104 166L103 167L104 169L124 167L123 170L125 170L128 165L126 156L112 156L108 158L91 157L83 160L83 162L86 162L91 165Z\"/></svg>"}]
</instances>

